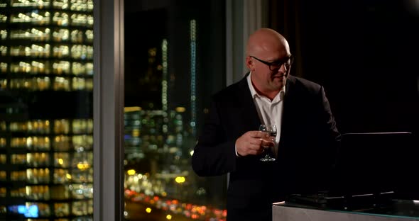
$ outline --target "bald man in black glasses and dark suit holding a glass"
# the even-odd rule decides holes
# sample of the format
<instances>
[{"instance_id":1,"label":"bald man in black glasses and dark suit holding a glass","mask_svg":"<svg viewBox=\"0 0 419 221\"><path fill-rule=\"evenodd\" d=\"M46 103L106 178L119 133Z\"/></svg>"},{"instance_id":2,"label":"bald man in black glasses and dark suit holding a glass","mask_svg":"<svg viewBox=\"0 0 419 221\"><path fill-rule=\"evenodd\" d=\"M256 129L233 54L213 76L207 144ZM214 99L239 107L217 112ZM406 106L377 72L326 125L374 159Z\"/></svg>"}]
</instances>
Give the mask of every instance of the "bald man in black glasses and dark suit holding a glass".
<instances>
[{"instance_id":1,"label":"bald man in black glasses and dark suit holding a glass","mask_svg":"<svg viewBox=\"0 0 419 221\"><path fill-rule=\"evenodd\" d=\"M246 45L249 72L212 96L192 168L230 174L228 221L272 220L272 203L327 188L340 134L323 87L290 75L292 64L283 35L261 28ZM271 149L261 124L278 128ZM275 160L261 161L266 152Z\"/></svg>"}]
</instances>

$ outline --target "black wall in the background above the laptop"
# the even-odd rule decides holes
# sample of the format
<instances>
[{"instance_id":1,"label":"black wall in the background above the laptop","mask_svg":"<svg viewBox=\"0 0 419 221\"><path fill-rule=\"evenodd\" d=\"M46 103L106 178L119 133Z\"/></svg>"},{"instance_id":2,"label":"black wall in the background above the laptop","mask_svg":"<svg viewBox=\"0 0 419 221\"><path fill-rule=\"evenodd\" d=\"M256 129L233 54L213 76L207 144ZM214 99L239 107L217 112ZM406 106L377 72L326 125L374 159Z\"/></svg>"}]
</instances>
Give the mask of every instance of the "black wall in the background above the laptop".
<instances>
[{"instance_id":1,"label":"black wall in the background above the laptop","mask_svg":"<svg viewBox=\"0 0 419 221\"><path fill-rule=\"evenodd\" d=\"M341 132L418 131L419 9L408 2L283 0L271 14L300 55L292 71L325 85Z\"/></svg>"}]
</instances>

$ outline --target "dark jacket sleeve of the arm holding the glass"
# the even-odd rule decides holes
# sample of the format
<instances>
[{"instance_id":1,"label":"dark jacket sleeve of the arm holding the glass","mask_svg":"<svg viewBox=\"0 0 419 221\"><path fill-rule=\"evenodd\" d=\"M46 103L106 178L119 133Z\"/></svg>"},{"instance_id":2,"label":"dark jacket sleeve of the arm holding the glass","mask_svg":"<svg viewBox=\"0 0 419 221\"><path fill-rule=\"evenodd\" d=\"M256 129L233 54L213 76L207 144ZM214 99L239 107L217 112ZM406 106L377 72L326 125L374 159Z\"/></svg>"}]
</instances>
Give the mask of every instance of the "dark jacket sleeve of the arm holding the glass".
<instances>
[{"instance_id":1,"label":"dark jacket sleeve of the arm holding the glass","mask_svg":"<svg viewBox=\"0 0 419 221\"><path fill-rule=\"evenodd\" d=\"M235 140L227 140L219 103L212 101L209 115L192 154L192 169L198 176L218 176L235 170Z\"/></svg>"}]
</instances>

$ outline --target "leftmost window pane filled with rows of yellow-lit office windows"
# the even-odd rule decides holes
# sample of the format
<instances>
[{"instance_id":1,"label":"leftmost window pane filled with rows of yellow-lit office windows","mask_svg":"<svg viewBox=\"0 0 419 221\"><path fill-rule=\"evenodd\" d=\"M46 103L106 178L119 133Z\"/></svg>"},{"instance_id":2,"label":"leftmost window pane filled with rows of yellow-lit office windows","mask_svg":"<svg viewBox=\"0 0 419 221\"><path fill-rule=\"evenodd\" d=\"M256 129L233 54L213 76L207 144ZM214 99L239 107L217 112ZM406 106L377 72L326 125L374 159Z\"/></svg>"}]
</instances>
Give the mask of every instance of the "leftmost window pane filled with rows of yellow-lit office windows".
<instances>
[{"instance_id":1,"label":"leftmost window pane filled with rows of yellow-lit office windows","mask_svg":"<svg viewBox=\"0 0 419 221\"><path fill-rule=\"evenodd\" d=\"M93 1L0 1L0 220L92 220Z\"/></svg>"}]
</instances>

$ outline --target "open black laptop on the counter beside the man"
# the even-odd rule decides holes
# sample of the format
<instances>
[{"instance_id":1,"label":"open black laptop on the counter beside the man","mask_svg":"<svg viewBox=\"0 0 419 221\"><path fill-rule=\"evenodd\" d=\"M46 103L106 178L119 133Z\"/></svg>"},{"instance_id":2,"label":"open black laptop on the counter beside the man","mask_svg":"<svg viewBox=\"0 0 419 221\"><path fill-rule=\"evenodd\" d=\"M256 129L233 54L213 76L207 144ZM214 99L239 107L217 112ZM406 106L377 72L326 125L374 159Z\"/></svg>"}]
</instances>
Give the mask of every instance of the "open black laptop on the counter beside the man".
<instances>
[{"instance_id":1,"label":"open black laptop on the counter beside the man","mask_svg":"<svg viewBox=\"0 0 419 221\"><path fill-rule=\"evenodd\" d=\"M411 132L342 135L330 189L289 196L294 203L362 208L393 198L415 197L418 144ZM416 185L415 185L416 184Z\"/></svg>"}]
</instances>

